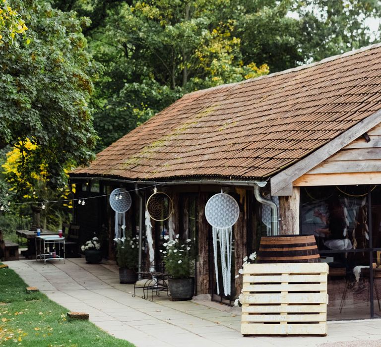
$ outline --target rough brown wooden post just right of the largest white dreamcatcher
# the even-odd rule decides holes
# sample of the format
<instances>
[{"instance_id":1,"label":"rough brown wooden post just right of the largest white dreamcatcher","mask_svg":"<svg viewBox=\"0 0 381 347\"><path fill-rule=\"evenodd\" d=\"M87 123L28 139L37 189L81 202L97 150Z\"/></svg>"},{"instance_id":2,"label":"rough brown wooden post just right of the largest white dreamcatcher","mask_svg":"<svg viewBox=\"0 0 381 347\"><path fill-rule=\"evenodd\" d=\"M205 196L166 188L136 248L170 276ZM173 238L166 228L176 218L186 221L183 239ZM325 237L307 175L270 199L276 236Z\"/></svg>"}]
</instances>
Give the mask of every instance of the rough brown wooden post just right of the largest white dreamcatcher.
<instances>
[{"instance_id":1,"label":"rough brown wooden post just right of the largest white dreamcatcher","mask_svg":"<svg viewBox=\"0 0 381 347\"><path fill-rule=\"evenodd\" d=\"M240 196L240 217L234 225L234 273L237 275L241 269L243 258L247 255L247 199L246 189L236 188L237 194ZM239 295L242 289L242 276L236 278L235 282L236 295Z\"/></svg>"}]
</instances>

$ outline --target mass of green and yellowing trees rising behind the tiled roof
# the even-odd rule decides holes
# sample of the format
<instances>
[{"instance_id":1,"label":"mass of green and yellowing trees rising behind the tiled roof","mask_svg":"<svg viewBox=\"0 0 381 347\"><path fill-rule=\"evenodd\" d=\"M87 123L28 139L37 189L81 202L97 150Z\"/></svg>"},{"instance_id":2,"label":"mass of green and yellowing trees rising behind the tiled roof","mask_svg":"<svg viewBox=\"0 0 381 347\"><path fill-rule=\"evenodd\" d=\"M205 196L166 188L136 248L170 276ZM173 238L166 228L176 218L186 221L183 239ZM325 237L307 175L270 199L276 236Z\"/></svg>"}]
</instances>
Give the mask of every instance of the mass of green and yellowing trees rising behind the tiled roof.
<instances>
[{"instance_id":1,"label":"mass of green and yellowing trees rising behind the tiled roof","mask_svg":"<svg viewBox=\"0 0 381 347\"><path fill-rule=\"evenodd\" d=\"M318 60L380 39L369 0L55 0L88 16L103 76L95 84L97 150L184 93ZM266 64L266 65L263 65ZM263 65L263 66L262 66Z\"/></svg>"}]
</instances>

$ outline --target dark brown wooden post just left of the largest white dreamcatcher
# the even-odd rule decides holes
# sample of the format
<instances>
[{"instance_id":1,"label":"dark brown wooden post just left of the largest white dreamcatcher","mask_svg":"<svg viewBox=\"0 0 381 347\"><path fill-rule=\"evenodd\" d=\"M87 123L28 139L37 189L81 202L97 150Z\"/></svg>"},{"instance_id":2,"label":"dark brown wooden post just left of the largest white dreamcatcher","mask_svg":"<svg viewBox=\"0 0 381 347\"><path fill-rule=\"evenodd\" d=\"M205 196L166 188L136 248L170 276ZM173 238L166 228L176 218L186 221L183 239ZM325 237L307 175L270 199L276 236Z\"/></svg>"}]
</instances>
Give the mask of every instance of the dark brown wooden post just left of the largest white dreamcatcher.
<instances>
[{"instance_id":1,"label":"dark brown wooden post just left of the largest white dreamcatcher","mask_svg":"<svg viewBox=\"0 0 381 347\"><path fill-rule=\"evenodd\" d=\"M199 294L209 293L209 224L205 219L207 193L199 192L198 210L198 290Z\"/></svg>"}]
</instances>

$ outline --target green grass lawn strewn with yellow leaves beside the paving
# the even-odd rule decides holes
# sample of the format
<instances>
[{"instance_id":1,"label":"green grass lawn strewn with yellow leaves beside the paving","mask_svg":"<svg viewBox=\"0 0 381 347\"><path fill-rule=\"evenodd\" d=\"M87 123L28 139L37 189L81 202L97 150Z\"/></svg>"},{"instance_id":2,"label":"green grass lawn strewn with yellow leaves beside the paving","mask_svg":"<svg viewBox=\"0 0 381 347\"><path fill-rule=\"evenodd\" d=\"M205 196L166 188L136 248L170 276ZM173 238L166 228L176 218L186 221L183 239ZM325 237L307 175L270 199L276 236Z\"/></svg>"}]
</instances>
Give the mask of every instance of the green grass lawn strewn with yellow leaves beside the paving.
<instances>
[{"instance_id":1,"label":"green grass lawn strewn with yellow leaves beside the paving","mask_svg":"<svg viewBox=\"0 0 381 347\"><path fill-rule=\"evenodd\" d=\"M0 346L134 346L93 323L68 322L66 308L40 292L27 294L26 287L13 270L0 268Z\"/></svg>"}]
</instances>

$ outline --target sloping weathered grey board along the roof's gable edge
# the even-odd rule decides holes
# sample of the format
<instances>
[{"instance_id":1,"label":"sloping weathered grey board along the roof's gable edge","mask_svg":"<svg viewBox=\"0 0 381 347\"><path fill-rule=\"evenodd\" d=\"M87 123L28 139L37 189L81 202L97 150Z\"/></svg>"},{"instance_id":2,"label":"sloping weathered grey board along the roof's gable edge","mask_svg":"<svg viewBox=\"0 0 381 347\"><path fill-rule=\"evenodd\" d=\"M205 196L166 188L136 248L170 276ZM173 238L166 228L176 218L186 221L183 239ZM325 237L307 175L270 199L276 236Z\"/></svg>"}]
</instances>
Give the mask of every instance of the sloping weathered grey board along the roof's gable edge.
<instances>
[{"instance_id":1,"label":"sloping weathered grey board along the roof's gable edge","mask_svg":"<svg viewBox=\"0 0 381 347\"><path fill-rule=\"evenodd\" d=\"M298 161L271 178L271 195L276 195L285 186L298 179L303 174L315 168L322 161L335 154L344 146L361 136L364 132L372 129L381 122L381 110L366 117L347 131L343 132L333 140L329 141L312 154ZM364 140L364 142L366 142Z\"/></svg>"}]
</instances>

